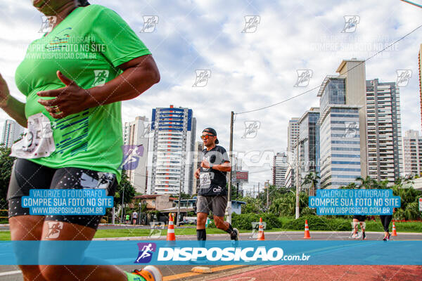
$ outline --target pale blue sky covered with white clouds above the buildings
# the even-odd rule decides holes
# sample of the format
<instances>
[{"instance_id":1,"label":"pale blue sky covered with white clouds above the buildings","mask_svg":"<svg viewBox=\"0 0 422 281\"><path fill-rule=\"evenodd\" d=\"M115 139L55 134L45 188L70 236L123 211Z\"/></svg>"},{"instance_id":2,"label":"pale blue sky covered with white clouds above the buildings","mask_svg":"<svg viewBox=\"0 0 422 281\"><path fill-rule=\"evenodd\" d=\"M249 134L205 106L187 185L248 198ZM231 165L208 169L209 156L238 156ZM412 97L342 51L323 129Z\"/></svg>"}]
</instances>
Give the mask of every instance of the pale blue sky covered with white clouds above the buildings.
<instances>
[{"instance_id":1,"label":"pale blue sky covered with white clouds above the buildings","mask_svg":"<svg viewBox=\"0 0 422 281\"><path fill-rule=\"evenodd\" d=\"M212 126L219 145L227 150L231 111L266 107L320 86L326 75L336 74L343 59L370 58L422 25L422 10L399 0L90 2L113 9L128 22L160 70L159 84L122 103L123 122L136 116L151 118L153 107L188 107L197 120L196 140L203 128ZM144 16L158 20L148 32L141 32ZM246 23L252 16L255 27ZM350 16L357 24L345 29L345 17ZM41 22L32 1L0 1L0 73L11 94L22 101L25 96L15 86L15 70L30 42L41 37ZM366 62L366 79L396 81L397 70L411 71L407 85L399 88L403 134L421 129L421 36L422 27ZM193 86L196 73L204 70L210 77ZM298 70L310 70L309 84L295 86ZM250 171L246 189L272 180L272 155L286 150L288 120L319 106L317 92L235 115L234 151ZM1 111L0 129L7 118ZM256 136L245 136L245 124L251 122L259 129Z\"/></svg>"}]
</instances>

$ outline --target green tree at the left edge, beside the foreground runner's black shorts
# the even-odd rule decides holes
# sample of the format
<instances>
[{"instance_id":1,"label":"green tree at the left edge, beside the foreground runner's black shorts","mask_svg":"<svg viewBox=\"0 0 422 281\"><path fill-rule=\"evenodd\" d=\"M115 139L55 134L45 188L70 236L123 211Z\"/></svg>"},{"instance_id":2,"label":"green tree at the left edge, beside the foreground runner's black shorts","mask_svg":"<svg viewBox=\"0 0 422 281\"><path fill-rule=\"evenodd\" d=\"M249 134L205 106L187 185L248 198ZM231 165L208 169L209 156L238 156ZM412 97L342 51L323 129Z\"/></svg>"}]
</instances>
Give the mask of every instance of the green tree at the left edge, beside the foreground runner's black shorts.
<instances>
[{"instance_id":1,"label":"green tree at the left edge, beside the foreground runner's black shorts","mask_svg":"<svg viewBox=\"0 0 422 281\"><path fill-rule=\"evenodd\" d=\"M11 181L11 172L15 157L10 157L11 149L0 145L0 209L8 209L6 201L8 183Z\"/></svg>"}]
</instances>

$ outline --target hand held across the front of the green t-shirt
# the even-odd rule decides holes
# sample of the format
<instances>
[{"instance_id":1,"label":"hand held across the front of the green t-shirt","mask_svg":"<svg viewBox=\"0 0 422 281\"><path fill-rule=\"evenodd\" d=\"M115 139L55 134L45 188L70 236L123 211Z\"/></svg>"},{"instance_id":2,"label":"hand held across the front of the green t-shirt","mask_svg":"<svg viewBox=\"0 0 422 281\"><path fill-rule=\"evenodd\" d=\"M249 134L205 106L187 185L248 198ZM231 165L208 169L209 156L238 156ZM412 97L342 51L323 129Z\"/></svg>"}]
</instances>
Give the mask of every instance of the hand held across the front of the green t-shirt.
<instances>
[{"instance_id":1,"label":"hand held across the front of the green t-shirt","mask_svg":"<svg viewBox=\"0 0 422 281\"><path fill-rule=\"evenodd\" d=\"M50 112L51 117L56 119L86 110L88 108L87 102L91 98L89 92L77 86L75 81L65 77L59 70L57 77L65 84L65 87L38 92L37 95L40 97L54 97L51 100L40 99L38 103L44 105L46 110Z\"/></svg>"}]
</instances>

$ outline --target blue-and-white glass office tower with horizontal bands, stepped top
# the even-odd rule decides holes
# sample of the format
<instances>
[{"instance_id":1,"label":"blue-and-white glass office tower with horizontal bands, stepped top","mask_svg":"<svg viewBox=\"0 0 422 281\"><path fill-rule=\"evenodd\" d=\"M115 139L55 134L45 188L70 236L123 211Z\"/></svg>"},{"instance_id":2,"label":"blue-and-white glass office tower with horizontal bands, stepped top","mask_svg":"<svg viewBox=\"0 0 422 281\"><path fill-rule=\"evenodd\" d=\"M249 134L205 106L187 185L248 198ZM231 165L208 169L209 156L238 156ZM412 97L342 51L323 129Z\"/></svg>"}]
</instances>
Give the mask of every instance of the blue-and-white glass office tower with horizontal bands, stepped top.
<instances>
[{"instance_id":1,"label":"blue-and-white glass office tower with horizontal bands, stepped top","mask_svg":"<svg viewBox=\"0 0 422 281\"><path fill-rule=\"evenodd\" d=\"M321 188L339 188L362 176L359 105L346 104L345 77L326 77L319 89Z\"/></svg>"}]
</instances>

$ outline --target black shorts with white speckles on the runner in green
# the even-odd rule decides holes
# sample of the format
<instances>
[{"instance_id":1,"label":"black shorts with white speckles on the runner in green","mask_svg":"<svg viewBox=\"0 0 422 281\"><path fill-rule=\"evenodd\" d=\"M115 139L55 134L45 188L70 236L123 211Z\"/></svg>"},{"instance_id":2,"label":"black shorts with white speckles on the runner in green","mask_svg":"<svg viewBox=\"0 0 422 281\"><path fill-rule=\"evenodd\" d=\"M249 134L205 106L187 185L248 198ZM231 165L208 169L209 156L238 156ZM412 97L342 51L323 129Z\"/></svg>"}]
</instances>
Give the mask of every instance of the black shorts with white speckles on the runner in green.
<instances>
[{"instance_id":1,"label":"black shorts with white speckles on the runner in green","mask_svg":"<svg viewBox=\"0 0 422 281\"><path fill-rule=\"evenodd\" d=\"M11 181L8 186L8 217L29 215L30 209L23 208L21 198L30 195L31 189L83 189L106 188L108 196L114 196L117 187L115 174L91 171L75 167L53 169L31 162L27 159L16 159L13 164ZM103 216L73 215L46 216L46 221L64 221L80 226L98 228Z\"/></svg>"}]
</instances>

